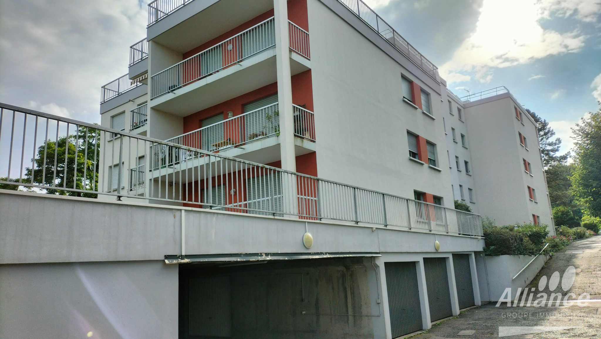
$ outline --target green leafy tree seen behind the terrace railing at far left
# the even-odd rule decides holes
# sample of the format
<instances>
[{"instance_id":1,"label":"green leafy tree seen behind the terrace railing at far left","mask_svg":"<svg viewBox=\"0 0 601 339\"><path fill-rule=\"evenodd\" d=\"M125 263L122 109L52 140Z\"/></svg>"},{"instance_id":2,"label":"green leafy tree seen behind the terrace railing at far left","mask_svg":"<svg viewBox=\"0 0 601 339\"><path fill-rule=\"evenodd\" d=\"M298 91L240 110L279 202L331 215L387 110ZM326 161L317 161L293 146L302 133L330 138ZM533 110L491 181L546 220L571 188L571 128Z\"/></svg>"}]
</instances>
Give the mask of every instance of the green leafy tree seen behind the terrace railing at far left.
<instances>
[{"instance_id":1,"label":"green leafy tree seen behind the terrace railing at far left","mask_svg":"<svg viewBox=\"0 0 601 339\"><path fill-rule=\"evenodd\" d=\"M88 142L85 142L86 133ZM58 139L58 142L50 139L46 140L44 144L38 147L37 156L35 157L35 168L28 167L25 169L25 176L28 182L31 182L31 178L33 177L33 182L37 185L97 191L100 154L99 136L99 133L95 129L79 127L76 134L69 135L68 138L67 136L63 136ZM86 148L87 159L85 158ZM96 148L96 169L94 169L94 148ZM67 156L65 156L65 153L67 153ZM75 158L76 153L77 159ZM67 161L65 161L65 157ZM44 159L46 160L45 165ZM77 171L75 171L76 162ZM85 183L84 173L86 178ZM94 173L96 173L95 177ZM46 189L46 193L71 195L74 197L97 197L97 194L94 193L66 191L63 189Z\"/></svg>"}]
</instances>

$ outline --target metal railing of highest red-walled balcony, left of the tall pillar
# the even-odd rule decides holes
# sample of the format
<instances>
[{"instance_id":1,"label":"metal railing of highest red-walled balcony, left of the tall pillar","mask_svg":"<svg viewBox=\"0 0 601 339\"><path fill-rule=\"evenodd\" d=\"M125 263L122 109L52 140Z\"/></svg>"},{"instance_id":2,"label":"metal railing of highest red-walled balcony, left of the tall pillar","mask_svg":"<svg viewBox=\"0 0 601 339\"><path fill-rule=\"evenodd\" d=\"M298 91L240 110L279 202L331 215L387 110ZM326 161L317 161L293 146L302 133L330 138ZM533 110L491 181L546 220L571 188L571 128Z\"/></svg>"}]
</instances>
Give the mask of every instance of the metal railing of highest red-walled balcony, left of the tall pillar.
<instances>
[{"instance_id":1,"label":"metal railing of highest red-walled balcony, left of the tall pillar","mask_svg":"<svg viewBox=\"0 0 601 339\"><path fill-rule=\"evenodd\" d=\"M273 17L151 76L151 95L177 90L275 46Z\"/></svg>"}]
</instances>

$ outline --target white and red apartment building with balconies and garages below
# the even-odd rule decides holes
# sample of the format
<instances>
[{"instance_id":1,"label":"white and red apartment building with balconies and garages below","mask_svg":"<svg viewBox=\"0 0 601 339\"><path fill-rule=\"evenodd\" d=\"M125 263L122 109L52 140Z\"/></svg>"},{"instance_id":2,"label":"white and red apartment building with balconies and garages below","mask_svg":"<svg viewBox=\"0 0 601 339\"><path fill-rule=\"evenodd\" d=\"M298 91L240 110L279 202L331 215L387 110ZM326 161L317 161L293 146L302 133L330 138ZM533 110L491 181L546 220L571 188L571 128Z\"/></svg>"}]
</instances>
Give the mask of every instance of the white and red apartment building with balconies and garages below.
<instances>
[{"instance_id":1,"label":"white and red apartment building with balconies and garages below","mask_svg":"<svg viewBox=\"0 0 601 339\"><path fill-rule=\"evenodd\" d=\"M56 336L396 338L480 305L480 216L552 225L532 121L480 95L361 0L153 1L101 127L57 120L99 133L98 199L44 197L68 227L3 262L67 302L16 298L14 317Z\"/></svg>"}]
</instances>

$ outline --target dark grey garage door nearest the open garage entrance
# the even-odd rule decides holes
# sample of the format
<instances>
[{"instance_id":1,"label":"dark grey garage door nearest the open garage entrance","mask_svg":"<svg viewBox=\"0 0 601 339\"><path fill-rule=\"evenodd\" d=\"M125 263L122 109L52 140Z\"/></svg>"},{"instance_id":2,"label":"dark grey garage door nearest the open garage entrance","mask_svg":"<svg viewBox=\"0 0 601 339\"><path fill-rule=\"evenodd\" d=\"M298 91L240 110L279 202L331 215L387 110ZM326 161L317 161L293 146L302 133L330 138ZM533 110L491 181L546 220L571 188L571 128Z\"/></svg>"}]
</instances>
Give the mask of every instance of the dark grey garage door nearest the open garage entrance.
<instances>
[{"instance_id":1,"label":"dark grey garage door nearest the open garage entrance","mask_svg":"<svg viewBox=\"0 0 601 339\"><path fill-rule=\"evenodd\" d=\"M423 328L415 261L385 263L392 338Z\"/></svg>"}]
</instances>

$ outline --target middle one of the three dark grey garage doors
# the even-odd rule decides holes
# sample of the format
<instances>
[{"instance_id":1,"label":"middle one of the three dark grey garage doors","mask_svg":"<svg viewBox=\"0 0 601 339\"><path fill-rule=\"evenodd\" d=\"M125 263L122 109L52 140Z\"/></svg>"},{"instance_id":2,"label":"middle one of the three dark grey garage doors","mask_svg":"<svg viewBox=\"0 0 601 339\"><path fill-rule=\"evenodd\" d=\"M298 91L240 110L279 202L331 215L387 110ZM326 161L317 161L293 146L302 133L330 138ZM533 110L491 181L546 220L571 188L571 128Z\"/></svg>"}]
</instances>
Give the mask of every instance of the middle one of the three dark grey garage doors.
<instances>
[{"instance_id":1,"label":"middle one of the three dark grey garage doors","mask_svg":"<svg viewBox=\"0 0 601 339\"><path fill-rule=\"evenodd\" d=\"M430 321L453 316L445 258L424 258Z\"/></svg>"}]
</instances>

